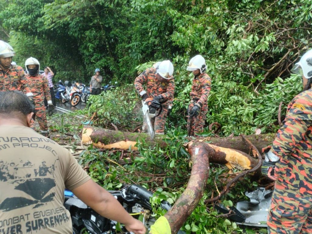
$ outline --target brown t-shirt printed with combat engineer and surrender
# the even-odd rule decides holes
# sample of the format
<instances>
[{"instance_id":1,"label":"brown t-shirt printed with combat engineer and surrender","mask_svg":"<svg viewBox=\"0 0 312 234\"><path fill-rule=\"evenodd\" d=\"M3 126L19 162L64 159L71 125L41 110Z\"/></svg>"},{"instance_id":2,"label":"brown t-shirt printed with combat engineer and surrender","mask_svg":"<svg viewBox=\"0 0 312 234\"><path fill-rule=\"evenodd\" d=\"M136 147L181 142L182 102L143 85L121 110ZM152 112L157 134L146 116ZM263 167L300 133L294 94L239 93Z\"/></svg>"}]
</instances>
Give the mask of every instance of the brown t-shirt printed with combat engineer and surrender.
<instances>
[{"instance_id":1,"label":"brown t-shirt printed with combat engineer and surrender","mask_svg":"<svg viewBox=\"0 0 312 234\"><path fill-rule=\"evenodd\" d=\"M0 232L72 234L64 190L90 180L71 153L25 126L0 126Z\"/></svg>"}]
</instances>

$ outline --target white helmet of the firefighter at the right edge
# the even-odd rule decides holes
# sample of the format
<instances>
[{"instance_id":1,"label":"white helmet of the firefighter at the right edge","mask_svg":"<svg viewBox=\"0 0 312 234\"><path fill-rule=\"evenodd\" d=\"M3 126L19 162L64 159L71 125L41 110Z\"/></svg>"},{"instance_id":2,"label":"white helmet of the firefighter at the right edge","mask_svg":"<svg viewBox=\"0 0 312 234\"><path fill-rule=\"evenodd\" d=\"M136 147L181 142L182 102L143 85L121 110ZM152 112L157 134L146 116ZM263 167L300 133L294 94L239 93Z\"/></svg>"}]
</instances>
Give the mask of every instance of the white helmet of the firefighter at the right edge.
<instances>
[{"instance_id":1,"label":"white helmet of the firefighter at the right edge","mask_svg":"<svg viewBox=\"0 0 312 234\"><path fill-rule=\"evenodd\" d=\"M300 61L291 69L293 73L304 75L309 79L312 77L312 49L305 52Z\"/></svg>"}]
</instances>

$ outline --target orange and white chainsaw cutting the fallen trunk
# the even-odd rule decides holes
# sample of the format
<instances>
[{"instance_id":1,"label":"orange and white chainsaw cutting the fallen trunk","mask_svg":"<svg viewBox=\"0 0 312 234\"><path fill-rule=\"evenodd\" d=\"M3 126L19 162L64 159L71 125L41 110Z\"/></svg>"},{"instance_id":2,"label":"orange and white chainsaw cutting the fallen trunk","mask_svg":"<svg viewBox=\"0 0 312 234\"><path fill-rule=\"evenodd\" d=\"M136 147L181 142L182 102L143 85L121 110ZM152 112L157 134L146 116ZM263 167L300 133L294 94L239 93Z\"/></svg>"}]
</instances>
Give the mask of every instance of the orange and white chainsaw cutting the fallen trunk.
<instances>
[{"instance_id":1,"label":"orange and white chainsaw cutting the fallen trunk","mask_svg":"<svg viewBox=\"0 0 312 234\"><path fill-rule=\"evenodd\" d=\"M147 123L149 135L151 139L154 139L155 133L151 123L151 119L160 115L163 110L163 106L158 101L153 101L153 98L147 98L145 101L142 100L142 110L144 115L144 121Z\"/></svg>"}]
</instances>

